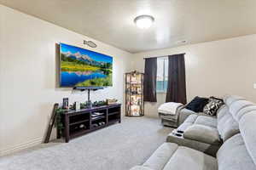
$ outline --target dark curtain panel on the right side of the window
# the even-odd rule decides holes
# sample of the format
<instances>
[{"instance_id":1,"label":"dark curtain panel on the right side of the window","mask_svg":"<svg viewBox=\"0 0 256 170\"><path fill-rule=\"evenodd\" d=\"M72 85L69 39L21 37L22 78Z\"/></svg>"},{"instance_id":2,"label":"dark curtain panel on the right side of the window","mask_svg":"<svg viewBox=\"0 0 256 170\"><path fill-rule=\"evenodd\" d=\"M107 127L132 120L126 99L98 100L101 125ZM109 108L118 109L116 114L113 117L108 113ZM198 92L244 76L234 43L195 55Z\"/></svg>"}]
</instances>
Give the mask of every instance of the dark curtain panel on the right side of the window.
<instances>
[{"instance_id":1,"label":"dark curtain panel on the right side of the window","mask_svg":"<svg viewBox=\"0 0 256 170\"><path fill-rule=\"evenodd\" d=\"M184 54L169 55L166 102L186 104L186 74Z\"/></svg>"}]
</instances>

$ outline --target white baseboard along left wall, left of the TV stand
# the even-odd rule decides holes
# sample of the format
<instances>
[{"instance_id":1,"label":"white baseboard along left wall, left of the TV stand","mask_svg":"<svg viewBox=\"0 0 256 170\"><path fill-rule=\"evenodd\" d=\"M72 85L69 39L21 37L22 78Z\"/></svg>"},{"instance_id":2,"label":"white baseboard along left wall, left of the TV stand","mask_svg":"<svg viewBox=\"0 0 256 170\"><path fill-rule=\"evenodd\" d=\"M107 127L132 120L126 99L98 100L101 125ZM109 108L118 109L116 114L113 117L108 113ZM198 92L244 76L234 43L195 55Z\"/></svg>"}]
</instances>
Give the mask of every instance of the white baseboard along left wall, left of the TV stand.
<instances>
[{"instance_id":1,"label":"white baseboard along left wall, left of the TV stand","mask_svg":"<svg viewBox=\"0 0 256 170\"><path fill-rule=\"evenodd\" d=\"M40 137L40 138L32 139L26 143L15 144L11 148L0 150L0 156L6 156L9 154L15 153L16 151L24 150L24 149L30 148L34 145L42 144L42 140L43 140L43 138Z\"/></svg>"}]
</instances>

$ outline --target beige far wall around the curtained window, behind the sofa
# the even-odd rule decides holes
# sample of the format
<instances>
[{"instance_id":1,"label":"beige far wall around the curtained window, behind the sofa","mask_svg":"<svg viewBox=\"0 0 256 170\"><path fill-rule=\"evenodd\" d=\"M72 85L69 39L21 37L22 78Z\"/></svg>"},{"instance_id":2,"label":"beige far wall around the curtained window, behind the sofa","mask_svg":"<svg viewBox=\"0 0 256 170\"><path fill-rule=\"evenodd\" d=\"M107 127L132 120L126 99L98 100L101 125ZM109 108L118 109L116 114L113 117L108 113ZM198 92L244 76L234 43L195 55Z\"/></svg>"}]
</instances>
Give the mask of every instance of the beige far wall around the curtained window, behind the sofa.
<instances>
[{"instance_id":1,"label":"beige far wall around the curtained window, behind the sofa","mask_svg":"<svg viewBox=\"0 0 256 170\"><path fill-rule=\"evenodd\" d=\"M134 54L133 69L143 71L143 57L186 53L188 100L199 96L237 94L256 102L256 35L204 42L179 48L166 48ZM166 94L158 94L158 102L145 105L145 115L157 116L157 108Z\"/></svg>"}]
</instances>

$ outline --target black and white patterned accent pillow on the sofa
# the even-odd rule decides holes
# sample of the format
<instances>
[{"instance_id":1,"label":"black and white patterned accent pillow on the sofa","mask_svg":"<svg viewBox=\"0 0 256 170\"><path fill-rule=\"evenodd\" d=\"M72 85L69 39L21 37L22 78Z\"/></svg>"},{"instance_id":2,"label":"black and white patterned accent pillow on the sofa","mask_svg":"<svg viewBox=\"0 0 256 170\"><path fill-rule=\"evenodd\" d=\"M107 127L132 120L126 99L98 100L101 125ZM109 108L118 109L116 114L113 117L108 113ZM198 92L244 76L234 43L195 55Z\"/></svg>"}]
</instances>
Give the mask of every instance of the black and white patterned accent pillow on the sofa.
<instances>
[{"instance_id":1,"label":"black and white patterned accent pillow on the sofa","mask_svg":"<svg viewBox=\"0 0 256 170\"><path fill-rule=\"evenodd\" d=\"M218 99L215 97L210 97L209 103L204 107L203 112L210 116L216 116L218 109L224 105L222 99Z\"/></svg>"}]
</instances>

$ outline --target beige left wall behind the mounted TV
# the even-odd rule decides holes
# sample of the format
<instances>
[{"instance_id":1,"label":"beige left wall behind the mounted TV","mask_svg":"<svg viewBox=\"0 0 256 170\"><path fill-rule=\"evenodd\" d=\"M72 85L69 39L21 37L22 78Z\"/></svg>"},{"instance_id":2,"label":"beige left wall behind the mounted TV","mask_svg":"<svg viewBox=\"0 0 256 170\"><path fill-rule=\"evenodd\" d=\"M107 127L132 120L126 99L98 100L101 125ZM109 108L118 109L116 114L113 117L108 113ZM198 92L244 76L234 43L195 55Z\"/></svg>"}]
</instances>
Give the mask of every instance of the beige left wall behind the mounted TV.
<instances>
[{"instance_id":1,"label":"beige left wall behind the mounted TV","mask_svg":"<svg viewBox=\"0 0 256 170\"><path fill-rule=\"evenodd\" d=\"M55 43L82 48L92 40L44 20L0 5L0 155L42 141L55 102L84 101L86 93L56 87ZM113 56L113 87L92 93L92 100L124 99L124 73L131 54L93 40L89 48Z\"/></svg>"}]
</instances>

